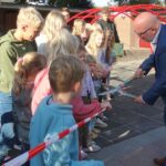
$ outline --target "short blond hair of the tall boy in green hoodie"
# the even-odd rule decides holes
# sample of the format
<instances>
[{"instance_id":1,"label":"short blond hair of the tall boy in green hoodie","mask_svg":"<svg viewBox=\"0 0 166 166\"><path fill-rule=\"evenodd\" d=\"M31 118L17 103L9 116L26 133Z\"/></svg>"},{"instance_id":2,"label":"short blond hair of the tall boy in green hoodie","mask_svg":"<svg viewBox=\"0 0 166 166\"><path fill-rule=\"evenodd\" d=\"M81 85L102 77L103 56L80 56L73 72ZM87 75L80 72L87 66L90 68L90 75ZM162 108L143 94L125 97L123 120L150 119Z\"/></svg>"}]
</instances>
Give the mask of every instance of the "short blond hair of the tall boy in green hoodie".
<instances>
[{"instance_id":1,"label":"short blond hair of the tall boy in green hoodie","mask_svg":"<svg viewBox=\"0 0 166 166\"><path fill-rule=\"evenodd\" d=\"M22 24L32 24L34 28L40 28L44 23L44 19L32 7L21 8L17 19L17 27L21 27Z\"/></svg>"}]
</instances>

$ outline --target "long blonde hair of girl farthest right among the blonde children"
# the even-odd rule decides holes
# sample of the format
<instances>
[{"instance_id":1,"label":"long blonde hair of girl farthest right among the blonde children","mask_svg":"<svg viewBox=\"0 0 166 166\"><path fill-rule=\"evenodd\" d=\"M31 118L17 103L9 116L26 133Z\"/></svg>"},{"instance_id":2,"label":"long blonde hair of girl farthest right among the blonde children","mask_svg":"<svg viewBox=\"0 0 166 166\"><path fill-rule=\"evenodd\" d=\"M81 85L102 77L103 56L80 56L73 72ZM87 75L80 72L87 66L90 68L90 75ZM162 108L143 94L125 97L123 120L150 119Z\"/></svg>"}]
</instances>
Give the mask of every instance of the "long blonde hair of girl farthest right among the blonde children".
<instances>
[{"instance_id":1,"label":"long blonde hair of girl farthest right among the blonde children","mask_svg":"<svg viewBox=\"0 0 166 166\"><path fill-rule=\"evenodd\" d=\"M86 50L87 50L87 53L90 53L91 55L93 56L96 56L97 55L97 52L98 52L98 48L96 46L95 44L95 38L97 35L104 35L104 32L101 31L101 30L95 30L91 33L90 35L90 39L89 39L89 42L86 44Z\"/></svg>"}]
</instances>

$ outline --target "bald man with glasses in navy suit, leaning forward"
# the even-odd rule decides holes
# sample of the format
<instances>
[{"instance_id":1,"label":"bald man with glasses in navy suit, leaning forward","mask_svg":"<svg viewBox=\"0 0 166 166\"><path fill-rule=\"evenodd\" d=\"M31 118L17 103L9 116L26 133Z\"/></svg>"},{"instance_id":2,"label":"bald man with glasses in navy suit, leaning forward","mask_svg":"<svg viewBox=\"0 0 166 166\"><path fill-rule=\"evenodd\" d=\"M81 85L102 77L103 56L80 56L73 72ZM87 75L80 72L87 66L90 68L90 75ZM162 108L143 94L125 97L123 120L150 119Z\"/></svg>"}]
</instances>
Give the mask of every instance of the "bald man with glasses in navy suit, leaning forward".
<instances>
[{"instance_id":1,"label":"bald man with glasses in navy suit, leaning forward","mask_svg":"<svg viewBox=\"0 0 166 166\"><path fill-rule=\"evenodd\" d=\"M146 75L155 68L155 82L142 95L135 98L137 103L153 105L158 97L164 102L164 122L166 124L166 25L148 12L138 14L134 20L134 31L143 40L151 42L153 53L135 72L135 77ZM166 157L154 159L155 164L166 166Z\"/></svg>"}]
</instances>

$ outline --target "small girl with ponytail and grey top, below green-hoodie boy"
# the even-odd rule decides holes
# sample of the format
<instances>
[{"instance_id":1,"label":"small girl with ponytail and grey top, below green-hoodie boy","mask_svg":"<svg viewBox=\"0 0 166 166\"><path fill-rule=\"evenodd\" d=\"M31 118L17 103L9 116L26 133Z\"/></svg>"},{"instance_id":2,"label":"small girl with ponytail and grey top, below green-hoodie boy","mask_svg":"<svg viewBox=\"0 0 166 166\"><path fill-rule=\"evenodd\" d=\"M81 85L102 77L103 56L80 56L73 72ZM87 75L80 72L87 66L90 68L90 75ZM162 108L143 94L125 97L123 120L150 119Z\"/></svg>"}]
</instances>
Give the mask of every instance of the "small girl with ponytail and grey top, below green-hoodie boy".
<instances>
[{"instance_id":1,"label":"small girl with ponytail and grey top, below green-hoodie boy","mask_svg":"<svg viewBox=\"0 0 166 166\"><path fill-rule=\"evenodd\" d=\"M29 149L33 81L38 72L45 65L46 59L44 55L29 52L19 59L14 66L14 82L12 89L13 117L17 137L21 143L22 152Z\"/></svg>"}]
</instances>

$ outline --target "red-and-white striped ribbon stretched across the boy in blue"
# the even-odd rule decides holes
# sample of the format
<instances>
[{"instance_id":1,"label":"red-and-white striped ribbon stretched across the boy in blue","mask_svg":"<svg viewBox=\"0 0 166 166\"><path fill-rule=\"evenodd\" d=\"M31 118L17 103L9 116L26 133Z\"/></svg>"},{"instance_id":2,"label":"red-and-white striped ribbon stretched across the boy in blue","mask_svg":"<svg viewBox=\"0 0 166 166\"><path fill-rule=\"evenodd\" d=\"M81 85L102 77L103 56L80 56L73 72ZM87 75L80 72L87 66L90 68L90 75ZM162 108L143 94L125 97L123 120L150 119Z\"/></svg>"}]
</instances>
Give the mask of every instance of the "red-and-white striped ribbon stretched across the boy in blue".
<instances>
[{"instance_id":1,"label":"red-and-white striped ribbon stretched across the boy in blue","mask_svg":"<svg viewBox=\"0 0 166 166\"><path fill-rule=\"evenodd\" d=\"M70 133L74 132L75 129L82 127L87 122L90 122L93 117L97 116L98 114L101 114L105 110L102 110L100 113L96 113L96 114L92 115L91 117L87 117L87 118L79 122L77 124L73 125L72 127L70 127L70 128L68 128L68 129L65 129L65 131L63 131L63 132L61 132L59 134L51 135L45 142L39 144L38 146L35 146L34 148L30 149L29 152L25 152L22 155L13 158L11 160L9 160L8 163L4 163L2 166L21 166L22 164L24 164L25 162L30 160L35 155L41 153L43 149L45 149L49 145L60 141L64 136L66 136Z\"/></svg>"}]
</instances>

